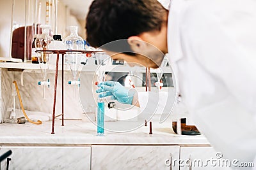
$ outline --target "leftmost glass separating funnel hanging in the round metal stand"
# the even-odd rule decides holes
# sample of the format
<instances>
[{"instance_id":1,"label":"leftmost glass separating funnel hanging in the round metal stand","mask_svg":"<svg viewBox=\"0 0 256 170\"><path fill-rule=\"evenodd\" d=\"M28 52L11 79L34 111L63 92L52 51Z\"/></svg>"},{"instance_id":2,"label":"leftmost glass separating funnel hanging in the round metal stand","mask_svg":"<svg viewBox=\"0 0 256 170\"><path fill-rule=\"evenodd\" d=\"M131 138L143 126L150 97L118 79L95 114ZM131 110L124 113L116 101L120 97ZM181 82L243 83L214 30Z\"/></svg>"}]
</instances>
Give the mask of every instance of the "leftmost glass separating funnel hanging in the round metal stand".
<instances>
[{"instance_id":1,"label":"leftmost glass separating funnel hanging in the round metal stand","mask_svg":"<svg viewBox=\"0 0 256 170\"><path fill-rule=\"evenodd\" d=\"M47 71L49 69L49 57L52 57L52 52L47 52L45 50L49 50L49 45L52 41L51 36L49 36L50 25L41 25L42 34L38 35L35 40L36 50L41 50L40 52L36 52L38 57L38 62L40 64L40 69L42 73L42 81L38 82L38 85L43 86L43 97L45 99L45 86L50 87L50 81L47 78ZM44 51L42 51L44 50Z\"/></svg>"}]
</instances>

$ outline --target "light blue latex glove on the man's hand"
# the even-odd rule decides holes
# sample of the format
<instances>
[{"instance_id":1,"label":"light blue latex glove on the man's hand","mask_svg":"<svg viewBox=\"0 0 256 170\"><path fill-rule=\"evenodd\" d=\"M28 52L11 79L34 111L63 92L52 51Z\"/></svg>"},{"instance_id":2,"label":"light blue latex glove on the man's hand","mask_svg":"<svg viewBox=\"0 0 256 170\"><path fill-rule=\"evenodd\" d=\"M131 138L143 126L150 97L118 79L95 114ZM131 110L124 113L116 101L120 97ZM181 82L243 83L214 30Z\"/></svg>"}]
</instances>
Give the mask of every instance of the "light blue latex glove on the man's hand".
<instances>
[{"instance_id":1,"label":"light blue latex glove on the man's hand","mask_svg":"<svg viewBox=\"0 0 256 170\"><path fill-rule=\"evenodd\" d=\"M99 97L111 96L111 99L120 103L132 104L132 99L136 93L135 89L126 89L117 81L104 81L98 84L99 89L96 90Z\"/></svg>"}]
</instances>

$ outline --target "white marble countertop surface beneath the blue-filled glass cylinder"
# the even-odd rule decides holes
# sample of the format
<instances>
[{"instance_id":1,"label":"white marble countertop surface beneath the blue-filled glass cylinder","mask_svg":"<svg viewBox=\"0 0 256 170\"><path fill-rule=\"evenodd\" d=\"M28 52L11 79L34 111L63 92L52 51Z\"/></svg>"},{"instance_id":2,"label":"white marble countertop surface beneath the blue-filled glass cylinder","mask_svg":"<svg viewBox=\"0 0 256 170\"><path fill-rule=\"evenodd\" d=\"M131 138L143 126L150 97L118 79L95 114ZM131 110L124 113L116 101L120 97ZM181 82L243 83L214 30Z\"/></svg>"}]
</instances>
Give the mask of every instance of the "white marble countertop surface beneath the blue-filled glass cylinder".
<instances>
[{"instance_id":1,"label":"white marble countertop surface beneath the blue-filled glass cylinder","mask_svg":"<svg viewBox=\"0 0 256 170\"><path fill-rule=\"evenodd\" d=\"M116 124L116 122L108 122ZM149 126L140 127L131 132L108 132L105 136L96 136L97 127L92 122L81 120L56 120L54 132L51 134L51 122L42 125L0 124L0 145L182 145L209 146L203 135L179 136L174 134L168 124L152 123L153 135L150 136Z\"/></svg>"}]
</instances>

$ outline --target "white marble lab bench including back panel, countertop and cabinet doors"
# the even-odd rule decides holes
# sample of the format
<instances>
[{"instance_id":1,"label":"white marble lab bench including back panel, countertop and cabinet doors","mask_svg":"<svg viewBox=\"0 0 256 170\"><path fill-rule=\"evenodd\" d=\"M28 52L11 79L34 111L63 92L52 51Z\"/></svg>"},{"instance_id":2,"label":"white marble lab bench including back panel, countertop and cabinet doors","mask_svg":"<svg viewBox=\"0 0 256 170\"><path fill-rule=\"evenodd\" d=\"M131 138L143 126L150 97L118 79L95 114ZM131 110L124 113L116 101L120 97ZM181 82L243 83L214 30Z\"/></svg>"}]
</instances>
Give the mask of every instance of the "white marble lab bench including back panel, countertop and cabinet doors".
<instances>
[{"instance_id":1,"label":"white marble lab bench including back panel, countertop and cabinet doors","mask_svg":"<svg viewBox=\"0 0 256 170\"><path fill-rule=\"evenodd\" d=\"M82 121L84 110L80 100L95 108L92 91L95 91L93 82L97 66L83 67L80 76L83 86L79 88L83 95L80 99L74 96L73 87L68 85L68 81L72 80L68 66L64 69L65 121L61 126L61 120L56 118L55 134L51 134L52 121L43 122L42 125L29 122L7 124L4 118L13 99L13 80L19 85L25 110L44 116L52 113L54 66L49 68L47 78L51 86L45 90L43 99L42 87L38 86L38 81L42 80L38 64L0 63L0 155L12 150L10 159L1 162L2 169L6 169L7 164L10 169L190 169L190 166L170 162L216 157L216 151L203 135L177 135L172 131L171 120L163 124L152 120L152 135L149 134L148 125L141 125L134 131L105 131L105 136L96 136L97 126L90 121ZM118 67L115 71L127 70L126 67ZM60 76L58 81L61 82ZM58 83L56 115L61 113L61 83ZM117 120L105 122L105 127L129 127L133 124L132 121Z\"/></svg>"}]
</instances>

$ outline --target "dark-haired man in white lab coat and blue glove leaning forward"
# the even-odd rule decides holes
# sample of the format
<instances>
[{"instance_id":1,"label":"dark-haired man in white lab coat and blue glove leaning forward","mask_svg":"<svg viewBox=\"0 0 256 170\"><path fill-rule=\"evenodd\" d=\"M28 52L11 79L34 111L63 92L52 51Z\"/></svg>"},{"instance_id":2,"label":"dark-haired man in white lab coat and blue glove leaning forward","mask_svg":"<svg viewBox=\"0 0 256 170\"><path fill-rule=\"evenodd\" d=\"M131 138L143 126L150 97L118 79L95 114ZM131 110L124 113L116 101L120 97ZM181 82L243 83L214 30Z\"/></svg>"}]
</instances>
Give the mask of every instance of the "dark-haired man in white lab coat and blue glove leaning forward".
<instances>
[{"instance_id":1,"label":"dark-haired man in white lab coat and blue glove leaning forward","mask_svg":"<svg viewBox=\"0 0 256 170\"><path fill-rule=\"evenodd\" d=\"M253 162L256 1L162 3L165 8L156 0L93 1L86 18L90 45L104 46L115 60L153 68L168 53L179 96L199 131L225 159ZM117 48L108 45L119 39L127 40ZM141 105L140 95L136 102L137 94L118 83L106 81L100 87L101 96Z\"/></svg>"}]
</instances>

